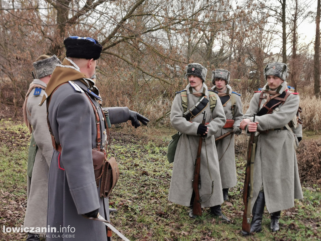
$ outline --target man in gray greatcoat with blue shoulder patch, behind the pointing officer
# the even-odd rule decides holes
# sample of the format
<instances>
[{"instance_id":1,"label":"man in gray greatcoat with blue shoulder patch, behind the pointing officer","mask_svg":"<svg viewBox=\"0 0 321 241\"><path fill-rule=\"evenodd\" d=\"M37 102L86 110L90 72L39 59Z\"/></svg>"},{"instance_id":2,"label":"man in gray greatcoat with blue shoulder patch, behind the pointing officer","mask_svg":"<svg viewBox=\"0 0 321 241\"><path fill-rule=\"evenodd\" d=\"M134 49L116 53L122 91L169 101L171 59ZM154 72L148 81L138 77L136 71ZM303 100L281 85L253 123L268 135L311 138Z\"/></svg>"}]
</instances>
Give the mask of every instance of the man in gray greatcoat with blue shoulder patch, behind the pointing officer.
<instances>
[{"instance_id":1,"label":"man in gray greatcoat with blue shoulder patch, behind the pointing officer","mask_svg":"<svg viewBox=\"0 0 321 241\"><path fill-rule=\"evenodd\" d=\"M31 133L27 169L27 210L24 228L47 227L48 174L52 155L52 144L47 124L46 106L39 106L44 90L56 65L61 64L54 56L41 55L33 63L36 78L30 83L23 104L24 122ZM40 230L41 231L41 230ZM27 241L39 240L28 232Z\"/></svg>"}]
</instances>

